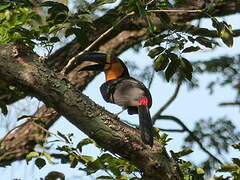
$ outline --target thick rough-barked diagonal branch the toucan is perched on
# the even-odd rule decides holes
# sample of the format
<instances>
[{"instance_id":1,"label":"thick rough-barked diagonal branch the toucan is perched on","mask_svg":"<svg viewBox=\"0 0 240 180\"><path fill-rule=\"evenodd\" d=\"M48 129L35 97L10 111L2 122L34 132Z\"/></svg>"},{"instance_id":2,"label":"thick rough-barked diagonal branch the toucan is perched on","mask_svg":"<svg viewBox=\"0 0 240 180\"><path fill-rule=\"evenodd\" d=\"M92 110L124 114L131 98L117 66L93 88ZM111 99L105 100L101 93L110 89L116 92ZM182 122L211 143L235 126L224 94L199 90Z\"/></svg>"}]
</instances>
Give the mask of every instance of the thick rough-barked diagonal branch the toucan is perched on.
<instances>
[{"instance_id":1,"label":"thick rough-barked diagonal branch the toucan is perched on","mask_svg":"<svg viewBox=\"0 0 240 180\"><path fill-rule=\"evenodd\" d=\"M12 56L13 48L19 55ZM116 117L81 94L63 77L58 76L26 49L1 47L0 76L66 117L98 145L135 164L148 179L180 179L175 163L157 141L151 148L142 143L139 131L118 121ZM34 61L32 61L34 59Z\"/></svg>"}]
</instances>

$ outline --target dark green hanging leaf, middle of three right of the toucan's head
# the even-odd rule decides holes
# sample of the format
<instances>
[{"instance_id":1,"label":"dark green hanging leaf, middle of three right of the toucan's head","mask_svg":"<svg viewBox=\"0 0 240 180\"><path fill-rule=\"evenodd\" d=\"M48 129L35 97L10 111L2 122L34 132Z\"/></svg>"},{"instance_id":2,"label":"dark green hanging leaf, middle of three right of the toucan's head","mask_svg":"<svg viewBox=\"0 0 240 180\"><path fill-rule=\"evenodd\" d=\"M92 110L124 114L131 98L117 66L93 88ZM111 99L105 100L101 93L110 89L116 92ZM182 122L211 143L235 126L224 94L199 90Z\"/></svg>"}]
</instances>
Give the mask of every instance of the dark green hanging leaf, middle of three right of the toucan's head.
<instances>
[{"instance_id":1,"label":"dark green hanging leaf, middle of three right of the toucan's head","mask_svg":"<svg viewBox=\"0 0 240 180\"><path fill-rule=\"evenodd\" d=\"M169 63L166 71L165 71L165 78L169 82L171 77L177 72L180 61L176 54L170 53L168 54L171 62Z\"/></svg>"}]
</instances>

